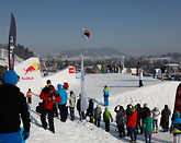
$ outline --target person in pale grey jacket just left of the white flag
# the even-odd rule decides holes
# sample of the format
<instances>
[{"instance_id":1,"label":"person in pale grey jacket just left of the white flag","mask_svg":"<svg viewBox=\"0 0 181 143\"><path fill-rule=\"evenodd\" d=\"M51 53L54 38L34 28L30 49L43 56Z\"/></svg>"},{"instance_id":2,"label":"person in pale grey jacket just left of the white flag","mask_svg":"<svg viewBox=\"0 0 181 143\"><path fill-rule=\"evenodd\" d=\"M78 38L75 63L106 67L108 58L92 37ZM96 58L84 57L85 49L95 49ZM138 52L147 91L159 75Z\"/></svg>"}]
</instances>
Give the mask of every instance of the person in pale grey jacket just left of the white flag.
<instances>
[{"instance_id":1,"label":"person in pale grey jacket just left of the white flag","mask_svg":"<svg viewBox=\"0 0 181 143\"><path fill-rule=\"evenodd\" d=\"M72 91L70 91L69 103L70 103L70 120L73 121L75 120L76 95Z\"/></svg>"}]
</instances>

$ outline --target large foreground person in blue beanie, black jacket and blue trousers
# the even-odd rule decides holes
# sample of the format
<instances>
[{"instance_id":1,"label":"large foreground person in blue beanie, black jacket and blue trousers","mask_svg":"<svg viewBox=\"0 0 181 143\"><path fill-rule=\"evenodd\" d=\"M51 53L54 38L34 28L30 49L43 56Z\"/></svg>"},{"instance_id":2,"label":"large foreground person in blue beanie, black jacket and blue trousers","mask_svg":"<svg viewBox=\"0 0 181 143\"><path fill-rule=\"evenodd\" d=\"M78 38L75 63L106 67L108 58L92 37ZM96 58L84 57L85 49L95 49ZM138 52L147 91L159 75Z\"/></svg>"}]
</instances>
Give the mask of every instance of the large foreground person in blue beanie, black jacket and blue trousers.
<instances>
[{"instance_id":1,"label":"large foreground person in blue beanie, black jacket and blue trousers","mask_svg":"<svg viewBox=\"0 0 181 143\"><path fill-rule=\"evenodd\" d=\"M22 143L30 136L30 112L27 110L26 99L20 88L16 86L18 74L13 71L7 71L2 75L2 85L0 85L0 142L2 143ZM24 131L21 135L21 120Z\"/></svg>"}]
</instances>

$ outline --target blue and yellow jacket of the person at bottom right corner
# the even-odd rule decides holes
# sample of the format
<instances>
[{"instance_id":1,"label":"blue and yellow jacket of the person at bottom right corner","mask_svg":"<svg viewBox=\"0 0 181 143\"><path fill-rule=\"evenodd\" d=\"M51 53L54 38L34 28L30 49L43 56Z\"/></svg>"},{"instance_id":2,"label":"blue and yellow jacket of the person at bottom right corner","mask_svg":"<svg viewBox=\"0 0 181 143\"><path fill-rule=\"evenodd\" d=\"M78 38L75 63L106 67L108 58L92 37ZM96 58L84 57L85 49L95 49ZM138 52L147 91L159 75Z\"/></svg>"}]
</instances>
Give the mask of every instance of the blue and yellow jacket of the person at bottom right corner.
<instances>
[{"instance_id":1,"label":"blue and yellow jacket of the person at bottom right corner","mask_svg":"<svg viewBox=\"0 0 181 143\"><path fill-rule=\"evenodd\" d=\"M179 112L176 112L170 131L173 131L173 134L181 134L181 118Z\"/></svg>"}]
</instances>

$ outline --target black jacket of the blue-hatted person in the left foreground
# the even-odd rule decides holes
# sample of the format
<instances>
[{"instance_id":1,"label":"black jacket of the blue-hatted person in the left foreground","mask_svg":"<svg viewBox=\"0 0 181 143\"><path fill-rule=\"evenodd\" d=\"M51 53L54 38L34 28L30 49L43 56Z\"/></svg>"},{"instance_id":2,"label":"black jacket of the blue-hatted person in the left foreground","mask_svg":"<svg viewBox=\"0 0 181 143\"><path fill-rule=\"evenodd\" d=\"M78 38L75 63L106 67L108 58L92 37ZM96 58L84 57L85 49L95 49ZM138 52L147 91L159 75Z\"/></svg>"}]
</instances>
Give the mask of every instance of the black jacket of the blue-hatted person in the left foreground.
<instances>
[{"instance_id":1,"label":"black jacket of the blue-hatted person in the left foreground","mask_svg":"<svg viewBox=\"0 0 181 143\"><path fill-rule=\"evenodd\" d=\"M25 96L20 88L11 84L0 85L0 133L20 131L20 117L24 131L30 131L30 112Z\"/></svg>"}]
</instances>

